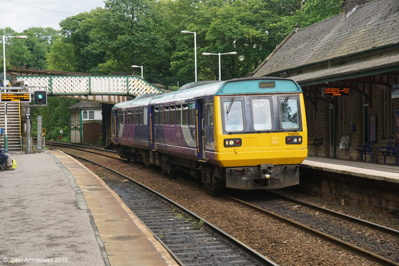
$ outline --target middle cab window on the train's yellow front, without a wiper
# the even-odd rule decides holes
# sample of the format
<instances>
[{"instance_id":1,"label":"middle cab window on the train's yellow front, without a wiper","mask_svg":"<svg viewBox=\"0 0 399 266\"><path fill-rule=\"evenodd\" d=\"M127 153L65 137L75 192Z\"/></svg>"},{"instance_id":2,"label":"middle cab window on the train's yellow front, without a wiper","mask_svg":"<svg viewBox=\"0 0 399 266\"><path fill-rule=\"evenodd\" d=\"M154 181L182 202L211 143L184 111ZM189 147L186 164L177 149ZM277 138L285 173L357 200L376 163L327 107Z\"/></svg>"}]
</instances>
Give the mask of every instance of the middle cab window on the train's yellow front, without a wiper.
<instances>
[{"instance_id":1,"label":"middle cab window on the train's yellow front, without a wiper","mask_svg":"<svg viewBox=\"0 0 399 266\"><path fill-rule=\"evenodd\" d=\"M252 123L255 131L272 129L270 99L252 99Z\"/></svg>"}]
</instances>

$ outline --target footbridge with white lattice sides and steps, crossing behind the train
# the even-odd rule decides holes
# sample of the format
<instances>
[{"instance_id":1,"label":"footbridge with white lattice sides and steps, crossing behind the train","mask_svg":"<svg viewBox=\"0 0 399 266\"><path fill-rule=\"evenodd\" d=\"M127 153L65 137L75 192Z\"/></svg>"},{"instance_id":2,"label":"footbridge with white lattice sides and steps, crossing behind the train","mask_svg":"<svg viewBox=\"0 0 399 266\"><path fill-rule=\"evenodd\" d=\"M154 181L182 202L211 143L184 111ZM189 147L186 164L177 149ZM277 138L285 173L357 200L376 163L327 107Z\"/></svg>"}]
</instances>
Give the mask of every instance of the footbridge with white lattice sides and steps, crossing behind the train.
<instances>
[{"instance_id":1,"label":"footbridge with white lattice sides and steps, crossing behind the train","mask_svg":"<svg viewBox=\"0 0 399 266\"><path fill-rule=\"evenodd\" d=\"M13 68L7 71L7 79L10 77L12 77L11 86L19 88L24 86L32 97L35 91L46 91L48 96L100 102L102 104L104 144L108 144L108 139L110 139L110 125L108 124L111 120L111 109L115 103L125 102L142 94L163 93L161 89L146 80L130 75L96 75ZM23 82L24 85L20 82ZM12 87L9 89L12 91ZM20 139L24 134L25 111L20 104L0 104L0 128L7 129L8 149L10 150L21 148ZM83 127L73 130L83 131ZM4 147L4 144L4 138L0 137L0 145Z\"/></svg>"}]
</instances>

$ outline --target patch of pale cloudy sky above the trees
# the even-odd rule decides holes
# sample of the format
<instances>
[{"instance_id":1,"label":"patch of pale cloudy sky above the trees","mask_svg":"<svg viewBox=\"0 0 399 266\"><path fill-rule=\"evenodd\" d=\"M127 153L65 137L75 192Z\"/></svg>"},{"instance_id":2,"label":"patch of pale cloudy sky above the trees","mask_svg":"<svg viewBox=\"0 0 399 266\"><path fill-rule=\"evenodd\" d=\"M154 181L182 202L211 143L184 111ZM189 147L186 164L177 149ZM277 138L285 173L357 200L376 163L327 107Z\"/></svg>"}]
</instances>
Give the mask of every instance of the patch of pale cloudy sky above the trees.
<instances>
[{"instance_id":1,"label":"patch of pale cloudy sky above the trees","mask_svg":"<svg viewBox=\"0 0 399 266\"><path fill-rule=\"evenodd\" d=\"M0 28L22 32L30 27L60 29L68 16L104 7L103 0L0 0Z\"/></svg>"}]
</instances>

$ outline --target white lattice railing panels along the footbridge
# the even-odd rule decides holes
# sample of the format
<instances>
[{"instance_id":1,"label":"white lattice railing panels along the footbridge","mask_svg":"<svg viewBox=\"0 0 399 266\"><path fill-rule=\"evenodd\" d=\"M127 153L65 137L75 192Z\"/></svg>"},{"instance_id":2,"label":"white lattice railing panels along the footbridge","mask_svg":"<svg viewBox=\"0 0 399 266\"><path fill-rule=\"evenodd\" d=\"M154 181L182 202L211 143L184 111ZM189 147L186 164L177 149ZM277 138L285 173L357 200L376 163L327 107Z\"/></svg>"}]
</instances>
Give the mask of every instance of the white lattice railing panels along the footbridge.
<instances>
[{"instance_id":1,"label":"white lattice railing panels along the footbridge","mask_svg":"<svg viewBox=\"0 0 399 266\"><path fill-rule=\"evenodd\" d=\"M46 88L49 95L123 95L163 93L136 76L18 76L29 92Z\"/></svg>"}]
</instances>

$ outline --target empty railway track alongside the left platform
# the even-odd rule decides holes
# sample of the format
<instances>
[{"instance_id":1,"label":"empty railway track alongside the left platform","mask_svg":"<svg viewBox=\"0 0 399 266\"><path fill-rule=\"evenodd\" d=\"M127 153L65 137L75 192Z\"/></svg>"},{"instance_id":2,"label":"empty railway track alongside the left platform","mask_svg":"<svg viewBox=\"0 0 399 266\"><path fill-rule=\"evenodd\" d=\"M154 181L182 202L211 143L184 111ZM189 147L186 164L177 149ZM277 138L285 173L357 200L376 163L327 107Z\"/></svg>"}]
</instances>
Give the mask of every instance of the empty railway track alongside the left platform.
<instances>
[{"instance_id":1,"label":"empty railway track alongside the left platform","mask_svg":"<svg viewBox=\"0 0 399 266\"><path fill-rule=\"evenodd\" d=\"M82 149L80 149L82 150ZM65 152L66 153L66 152ZM180 265L278 266L203 218L149 187L104 165L103 180L153 232ZM129 180L130 182L125 182Z\"/></svg>"}]
</instances>

